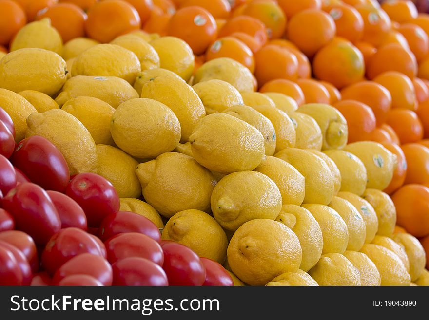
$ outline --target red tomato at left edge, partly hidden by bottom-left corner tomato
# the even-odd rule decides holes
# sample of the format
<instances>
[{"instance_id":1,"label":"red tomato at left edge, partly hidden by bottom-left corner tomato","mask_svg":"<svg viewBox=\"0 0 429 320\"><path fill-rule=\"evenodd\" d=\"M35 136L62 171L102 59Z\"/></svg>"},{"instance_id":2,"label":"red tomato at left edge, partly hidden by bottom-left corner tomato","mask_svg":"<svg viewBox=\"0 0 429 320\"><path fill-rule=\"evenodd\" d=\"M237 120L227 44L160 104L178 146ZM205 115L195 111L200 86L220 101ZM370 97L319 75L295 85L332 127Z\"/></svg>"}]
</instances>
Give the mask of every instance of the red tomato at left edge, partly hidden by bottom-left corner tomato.
<instances>
[{"instance_id":1,"label":"red tomato at left edge, partly hidden by bottom-left corner tomato","mask_svg":"<svg viewBox=\"0 0 429 320\"><path fill-rule=\"evenodd\" d=\"M17 247L27 258L33 272L39 270L36 244L28 234L18 230L0 232L0 240Z\"/></svg>"}]
</instances>

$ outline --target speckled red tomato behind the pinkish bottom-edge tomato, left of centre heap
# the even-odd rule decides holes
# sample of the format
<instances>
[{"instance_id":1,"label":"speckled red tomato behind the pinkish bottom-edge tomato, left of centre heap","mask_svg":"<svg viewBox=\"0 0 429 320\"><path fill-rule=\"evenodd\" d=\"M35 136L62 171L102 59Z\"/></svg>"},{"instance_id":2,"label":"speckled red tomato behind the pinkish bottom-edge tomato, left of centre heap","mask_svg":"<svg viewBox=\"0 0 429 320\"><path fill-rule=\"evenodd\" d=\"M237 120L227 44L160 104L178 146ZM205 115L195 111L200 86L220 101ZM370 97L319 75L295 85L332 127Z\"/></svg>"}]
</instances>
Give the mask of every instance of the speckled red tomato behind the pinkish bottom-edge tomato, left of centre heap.
<instances>
[{"instance_id":1,"label":"speckled red tomato behind the pinkish bottom-edge tomato, left of centre heap","mask_svg":"<svg viewBox=\"0 0 429 320\"><path fill-rule=\"evenodd\" d=\"M46 244L42 252L42 267L53 275L61 265L82 253L103 256L97 241L90 234L74 227L62 229Z\"/></svg>"}]
</instances>

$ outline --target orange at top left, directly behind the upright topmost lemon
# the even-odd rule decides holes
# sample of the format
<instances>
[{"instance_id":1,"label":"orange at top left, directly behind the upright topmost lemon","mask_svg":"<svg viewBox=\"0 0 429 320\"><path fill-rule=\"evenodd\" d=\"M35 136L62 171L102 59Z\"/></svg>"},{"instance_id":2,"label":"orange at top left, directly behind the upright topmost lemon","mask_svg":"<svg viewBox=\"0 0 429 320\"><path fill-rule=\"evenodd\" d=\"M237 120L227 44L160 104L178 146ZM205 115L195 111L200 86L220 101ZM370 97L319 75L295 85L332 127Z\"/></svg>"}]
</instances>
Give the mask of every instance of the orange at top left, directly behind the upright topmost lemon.
<instances>
[{"instance_id":1,"label":"orange at top left, directly behind the upright topmost lemon","mask_svg":"<svg viewBox=\"0 0 429 320\"><path fill-rule=\"evenodd\" d=\"M59 3L50 8L40 10L36 20L51 19L51 25L58 30L64 42L85 36L86 13L72 3Z\"/></svg>"}]
</instances>

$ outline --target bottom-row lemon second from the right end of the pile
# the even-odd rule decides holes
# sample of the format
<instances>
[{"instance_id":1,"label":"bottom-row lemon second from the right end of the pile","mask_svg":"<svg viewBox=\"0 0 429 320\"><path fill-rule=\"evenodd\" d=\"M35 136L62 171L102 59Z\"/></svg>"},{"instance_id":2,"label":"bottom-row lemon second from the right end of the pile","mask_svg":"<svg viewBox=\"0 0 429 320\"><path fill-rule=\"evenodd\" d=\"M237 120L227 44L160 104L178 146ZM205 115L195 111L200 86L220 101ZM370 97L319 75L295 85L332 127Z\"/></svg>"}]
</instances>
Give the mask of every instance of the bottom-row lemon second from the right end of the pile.
<instances>
[{"instance_id":1,"label":"bottom-row lemon second from the right end of the pile","mask_svg":"<svg viewBox=\"0 0 429 320\"><path fill-rule=\"evenodd\" d=\"M365 253L377 267L381 285L409 285L409 273L395 253L384 246L373 244L363 245L360 252Z\"/></svg>"}]
</instances>

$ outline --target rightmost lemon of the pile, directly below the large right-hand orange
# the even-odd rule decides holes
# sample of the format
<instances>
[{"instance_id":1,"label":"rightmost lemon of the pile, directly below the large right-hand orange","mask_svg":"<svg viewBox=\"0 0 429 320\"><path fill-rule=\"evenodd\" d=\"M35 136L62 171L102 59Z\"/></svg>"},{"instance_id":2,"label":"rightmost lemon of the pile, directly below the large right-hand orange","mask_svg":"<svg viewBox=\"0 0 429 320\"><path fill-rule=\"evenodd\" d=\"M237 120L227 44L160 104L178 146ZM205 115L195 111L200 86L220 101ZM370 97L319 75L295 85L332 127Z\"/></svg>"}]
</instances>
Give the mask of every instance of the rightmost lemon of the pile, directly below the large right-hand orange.
<instances>
[{"instance_id":1,"label":"rightmost lemon of the pile, directly below the large right-hand orange","mask_svg":"<svg viewBox=\"0 0 429 320\"><path fill-rule=\"evenodd\" d=\"M416 281L425 270L427 259L425 249L415 237L408 233L396 233L393 235L393 240L404 248L409 260L411 281Z\"/></svg>"}]
</instances>

